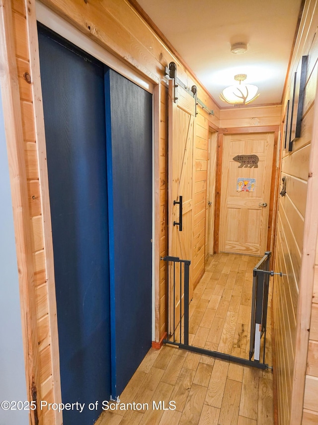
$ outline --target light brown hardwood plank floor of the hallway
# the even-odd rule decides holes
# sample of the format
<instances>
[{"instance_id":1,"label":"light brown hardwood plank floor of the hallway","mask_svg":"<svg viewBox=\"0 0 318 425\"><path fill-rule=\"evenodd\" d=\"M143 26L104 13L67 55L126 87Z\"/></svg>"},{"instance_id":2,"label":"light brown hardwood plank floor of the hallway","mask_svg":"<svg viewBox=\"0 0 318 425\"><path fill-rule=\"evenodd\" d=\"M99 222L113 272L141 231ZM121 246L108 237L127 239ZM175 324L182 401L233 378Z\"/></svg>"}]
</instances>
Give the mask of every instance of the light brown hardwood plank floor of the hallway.
<instances>
[{"instance_id":1,"label":"light brown hardwood plank floor of the hallway","mask_svg":"<svg viewBox=\"0 0 318 425\"><path fill-rule=\"evenodd\" d=\"M252 269L258 261L223 253L208 259L190 302L190 344L248 358ZM269 314L265 361L271 366L270 327ZM148 352L121 394L117 409L125 410L103 412L96 425L271 425L272 384L270 370L164 345Z\"/></svg>"}]
</instances>

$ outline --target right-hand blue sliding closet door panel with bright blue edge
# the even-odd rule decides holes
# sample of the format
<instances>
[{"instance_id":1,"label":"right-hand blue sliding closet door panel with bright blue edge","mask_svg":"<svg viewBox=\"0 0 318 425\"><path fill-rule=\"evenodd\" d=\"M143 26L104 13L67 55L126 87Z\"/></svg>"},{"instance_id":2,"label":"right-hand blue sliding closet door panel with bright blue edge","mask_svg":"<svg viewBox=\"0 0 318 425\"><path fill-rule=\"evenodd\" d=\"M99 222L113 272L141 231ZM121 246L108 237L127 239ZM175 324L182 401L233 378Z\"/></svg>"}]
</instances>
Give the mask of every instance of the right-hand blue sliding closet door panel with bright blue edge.
<instances>
[{"instance_id":1,"label":"right-hand blue sliding closet door panel with bright blue edge","mask_svg":"<svg viewBox=\"0 0 318 425\"><path fill-rule=\"evenodd\" d=\"M112 397L152 340L152 95L105 73Z\"/></svg>"}]
</instances>

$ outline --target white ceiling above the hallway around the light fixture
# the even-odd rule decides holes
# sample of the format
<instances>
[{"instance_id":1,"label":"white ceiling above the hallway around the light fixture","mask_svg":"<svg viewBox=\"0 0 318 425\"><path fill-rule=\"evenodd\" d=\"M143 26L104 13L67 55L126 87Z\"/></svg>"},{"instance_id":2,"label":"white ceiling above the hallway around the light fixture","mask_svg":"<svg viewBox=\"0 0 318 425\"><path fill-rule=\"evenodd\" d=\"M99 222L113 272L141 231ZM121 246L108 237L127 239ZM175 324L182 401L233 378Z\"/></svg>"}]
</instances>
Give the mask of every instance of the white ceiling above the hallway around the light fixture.
<instances>
[{"instance_id":1,"label":"white ceiling above the hallway around the light fixture","mask_svg":"<svg viewBox=\"0 0 318 425\"><path fill-rule=\"evenodd\" d=\"M247 74L259 87L252 105L280 103L301 0L138 0L160 31L211 93L219 98ZM231 53L231 44L248 50Z\"/></svg>"}]
</instances>

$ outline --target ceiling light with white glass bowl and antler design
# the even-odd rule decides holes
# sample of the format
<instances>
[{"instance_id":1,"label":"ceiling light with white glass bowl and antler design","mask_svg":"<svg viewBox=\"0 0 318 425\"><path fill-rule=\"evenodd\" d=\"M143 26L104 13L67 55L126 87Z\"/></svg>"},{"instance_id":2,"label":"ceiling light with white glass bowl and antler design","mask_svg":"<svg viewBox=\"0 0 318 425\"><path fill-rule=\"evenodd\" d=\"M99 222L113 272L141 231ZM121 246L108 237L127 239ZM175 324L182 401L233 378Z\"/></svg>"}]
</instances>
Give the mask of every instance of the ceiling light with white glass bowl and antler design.
<instances>
[{"instance_id":1,"label":"ceiling light with white glass bowl and antler design","mask_svg":"<svg viewBox=\"0 0 318 425\"><path fill-rule=\"evenodd\" d=\"M239 81L239 84L225 88L220 94L220 99L231 105L247 105L257 99L260 95L256 94L258 87L253 84L242 84L246 77L246 74L235 75L234 79Z\"/></svg>"}]
</instances>

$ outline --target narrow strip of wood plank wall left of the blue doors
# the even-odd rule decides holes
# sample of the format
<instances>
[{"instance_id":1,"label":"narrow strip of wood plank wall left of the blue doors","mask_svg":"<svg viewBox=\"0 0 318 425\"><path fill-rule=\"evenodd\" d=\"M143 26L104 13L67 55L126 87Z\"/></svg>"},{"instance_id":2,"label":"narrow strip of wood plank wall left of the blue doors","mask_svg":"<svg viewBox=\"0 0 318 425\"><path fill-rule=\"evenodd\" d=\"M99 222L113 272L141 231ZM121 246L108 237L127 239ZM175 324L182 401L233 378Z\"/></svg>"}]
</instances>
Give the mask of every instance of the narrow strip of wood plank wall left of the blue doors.
<instances>
[{"instance_id":1,"label":"narrow strip of wood plank wall left of the blue doors","mask_svg":"<svg viewBox=\"0 0 318 425\"><path fill-rule=\"evenodd\" d=\"M28 276L23 276L19 273L21 293L25 292L28 286L28 296L31 297L32 302L28 301L24 296L21 296L22 305L22 323L27 328L31 335L29 339L35 340L37 347L36 352L31 349L29 343L25 347L28 352L26 353L26 375L33 377L29 385L29 400L47 400L48 402L60 402L60 386L59 386L59 358L57 350L57 341L53 340L53 329L51 327L52 319L56 322L56 305L53 300L51 302L49 316L49 298L50 289L48 284L52 284L49 277L50 265L47 261L47 241L45 242L44 234L44 200L41 199L40 187L40 174L39 172L39 152L37 145L37 130L34 121L36 115L36 106L34 104L35 85L32 84L32 66L29 51L29 45L32 38L32 31L28 28L28 20L34 18L35 9L29 6L28 12L24 1L12 1L12 8L7 7L10 5L6 1L1 8L7 16L10 14L11 28L12 28L12 49L15 55L16 68L11 69L10 77L18 83L18 94L21 115L14 111L16 121L22 128L22 140L10 140L7 142L8 150L13 143L19 144L19 148L23 149L23 166L17 169L14 179L18 179L20 184L24 186L24 195L27 196L27 203L24 205L12 196L13 209L20 210L28 209L28 222L24 225L24 232L30 234L30 244L25 248L25 252L19 253L22 246L22 236L16 229L16 244L17 244L17 257L18 262L21 262L22 268L27 267ZM34 25L36 21L34 20ZM36 28L36 26L35 26ZM38 74L39 75L39 74ZM4 106L5 108L5 106ZM7 123L6 123L7 125ZM12 163L10 163L10 168ZM25 173L24 173L25 169ZM12 181L11 181L12 184ZM17 204L16 204L17 203ZM26 212L24 214L27 214ZM32 260L23 265L24 257L27 255L28 250L31 251ZM53 262L51 262L53 264ZM19 266L21 270L21 265ZM28 283L31 281L31 284ZM54 283L53 283L54 290ZM23 305L24 303L24 305ZM32 324L34 323L34 324ZM27 379L28 381L28 379ZM43 423L62 423L61 413L48 411L47 409L31 412L31 422L39 424ZM34 417L33 417L34 415Z\"/></svg>"}]
</instances>

